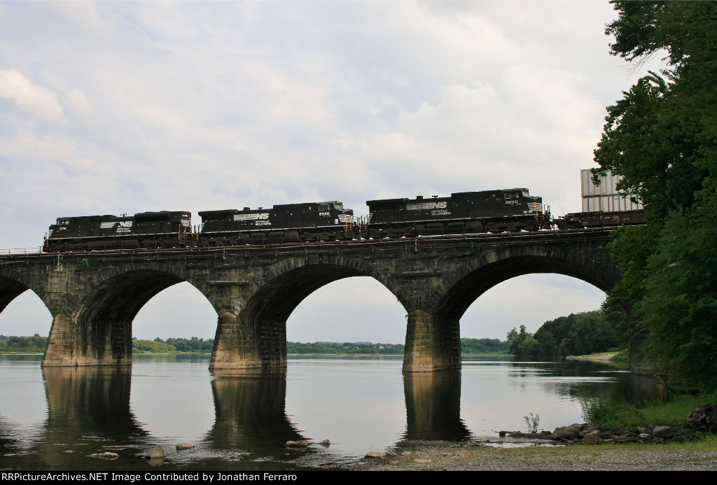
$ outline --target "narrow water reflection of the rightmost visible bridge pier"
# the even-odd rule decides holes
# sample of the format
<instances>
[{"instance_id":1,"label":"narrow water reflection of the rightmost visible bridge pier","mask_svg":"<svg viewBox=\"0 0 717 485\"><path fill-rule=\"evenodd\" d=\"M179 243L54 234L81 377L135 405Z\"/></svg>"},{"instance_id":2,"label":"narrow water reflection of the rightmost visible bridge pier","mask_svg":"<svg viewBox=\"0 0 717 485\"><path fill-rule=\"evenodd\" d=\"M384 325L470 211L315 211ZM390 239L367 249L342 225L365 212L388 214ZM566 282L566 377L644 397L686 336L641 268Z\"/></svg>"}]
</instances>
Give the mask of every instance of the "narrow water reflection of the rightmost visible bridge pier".
<instances>
[{"instance_id":1,"label":"narrow water reflection of the rightmost visible bridge pier","mask_svg":"<svg viewBox=\"0 0 717 485\"><path fill-rule=\"evenodd\" d=\"M409 440L459 441L470 436L460 419L460 373L404 375Z\"/></svg>"}]
</instances>

